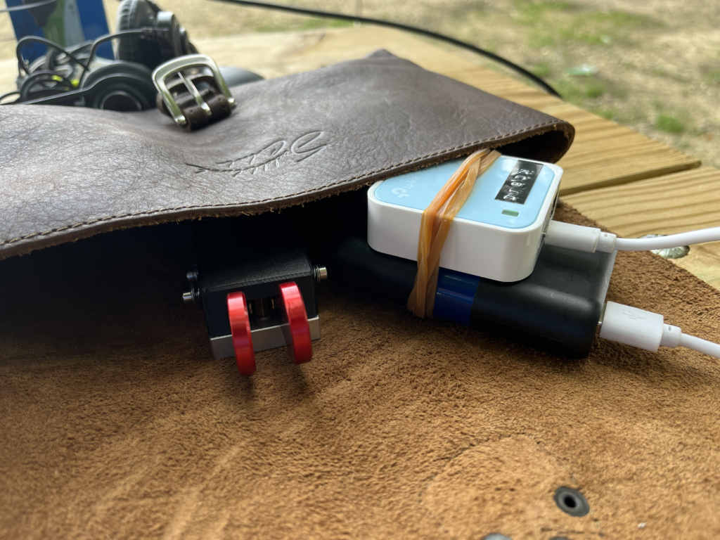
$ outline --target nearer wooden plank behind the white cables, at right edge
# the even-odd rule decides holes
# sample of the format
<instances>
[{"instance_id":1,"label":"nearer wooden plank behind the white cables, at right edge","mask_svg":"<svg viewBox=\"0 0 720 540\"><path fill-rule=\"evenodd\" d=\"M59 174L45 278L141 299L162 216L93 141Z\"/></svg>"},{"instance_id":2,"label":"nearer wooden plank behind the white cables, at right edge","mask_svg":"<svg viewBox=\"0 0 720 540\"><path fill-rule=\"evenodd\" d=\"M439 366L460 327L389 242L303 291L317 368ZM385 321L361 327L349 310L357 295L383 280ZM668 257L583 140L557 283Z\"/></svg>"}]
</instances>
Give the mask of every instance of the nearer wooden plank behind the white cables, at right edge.
<instances>
[{"instance_id":1,"label":"nearer wooden plank behind the white cables, at right edge","mask_svg":"<svg viewBox=\"0 0 720 540\"><path fill-rule=\"evenodd\" d=\"M626 238L718 227L720 171L696 168L563 200ZM720 289L720 242L692 246L688 256L673 262Z\"/></svg>"}]
</instances>

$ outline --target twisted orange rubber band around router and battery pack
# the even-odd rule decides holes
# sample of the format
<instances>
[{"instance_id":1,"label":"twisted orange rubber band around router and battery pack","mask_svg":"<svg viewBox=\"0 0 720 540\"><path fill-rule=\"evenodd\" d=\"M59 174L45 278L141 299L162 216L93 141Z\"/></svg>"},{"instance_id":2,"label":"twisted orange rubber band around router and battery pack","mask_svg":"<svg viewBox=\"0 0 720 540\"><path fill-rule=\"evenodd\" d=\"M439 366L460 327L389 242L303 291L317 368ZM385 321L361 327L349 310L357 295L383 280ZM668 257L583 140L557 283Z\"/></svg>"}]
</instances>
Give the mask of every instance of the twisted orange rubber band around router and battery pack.
<instances>
[{"instance_id":1,"label":"twisted orange rubber band around router and battery pack","mask_svg":"<svg viewBox=\"0 0 720 540\"><path fill-rule=\"evenodd\" d=\"M420 318L433 316L440 253L450 225L472 192L477 177L499 157L497 150L487 148L470 154L423 210L418 238L418 274L408 298L408 310Z\"/></svg>"}]
</instances>

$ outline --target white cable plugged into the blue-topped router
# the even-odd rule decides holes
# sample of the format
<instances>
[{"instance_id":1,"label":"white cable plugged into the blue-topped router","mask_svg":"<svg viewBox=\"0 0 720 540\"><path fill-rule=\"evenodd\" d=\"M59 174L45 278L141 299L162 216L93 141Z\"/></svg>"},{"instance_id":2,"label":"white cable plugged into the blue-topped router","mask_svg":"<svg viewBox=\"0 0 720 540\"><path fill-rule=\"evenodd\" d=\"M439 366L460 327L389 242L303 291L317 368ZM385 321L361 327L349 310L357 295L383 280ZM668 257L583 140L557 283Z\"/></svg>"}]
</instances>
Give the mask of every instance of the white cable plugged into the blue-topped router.
<instances>
[{"instance_id":1,"label":"white cable plugged into the blue-topped router","mask_svg":"<svg viewBox=\"0 0 720 540\"><path fill-rule=\"evenodd\" d=\"M548 246L587 251L588 253L677 248L678 246L690 246L690 244L715 242L716 240L720 240L720 227L656 238L618 238L612 233L603 233L598 228L582 227L582 225L572 225L562 221L551 221L545 235L545 243Z\"/></svg>"}]
</instances>

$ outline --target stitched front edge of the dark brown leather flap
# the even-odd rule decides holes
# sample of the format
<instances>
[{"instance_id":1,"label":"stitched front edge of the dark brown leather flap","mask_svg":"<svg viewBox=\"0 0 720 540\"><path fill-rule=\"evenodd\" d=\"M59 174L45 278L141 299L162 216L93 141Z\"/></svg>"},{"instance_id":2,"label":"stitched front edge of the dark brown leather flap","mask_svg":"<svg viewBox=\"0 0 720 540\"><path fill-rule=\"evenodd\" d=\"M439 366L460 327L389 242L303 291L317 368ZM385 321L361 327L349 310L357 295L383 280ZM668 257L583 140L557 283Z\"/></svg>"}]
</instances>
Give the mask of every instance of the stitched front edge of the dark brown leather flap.
<instances>
[{"instance_id":1,"label":"stitched front edge of the dark brown leather flap","mask_svg":"<svg viewBox=\"0 0 720 540\"><path fill-rule=\"evenodd\" d=\"M30 238L36 238L37 236L45 236L45 235L50 235L50 234L53 234L53 233L60 233L60 231L75 229L75 228L78 228L78 227L82 227L83 225L92 225L92 224L94 224L94 223L106 222L106 221L110 221L110 220L117 220L117 219L120 219L120 218L122 218L122 217L135 217L135 216L153 215L153 214L157 214L157 213L160 213L160 212L173 212L173 211L176 211L176 210L197 210L197 209L200 209L200 208L212 209L212 208L225 208L225 207L232 207L232 206L247 206L247 205L250 205L250 204L261 204L261 203L264 203L264 202L271 202L271 201L276 201L276 200L280 200L280 199L287 199L287 198L289 198L289 197L297 197L297 196L299 196L299 195L304 195L304 194L310 194L310 193L320 192L320 191L323 191L323 190L325 190L325 189L328 189L330 186L341 186L342 184L347 184L348 182L355 181L355 180L361 180L361 179L366 178L367 176L372 176L372 175L374 175L374 174L381 173L382 171L387 171L387 170L389 170L389 169L391 169L391 168L396 168L396 167L399 167L399 166L402 166L402 165L408 165L408 164L410 164L410 163L415 163L415 162L417 162L417 161L422 161L422 160L424 160L424 159L432 158L432 157L434 157L434 156L441 156L441 155L443 155L444 153L452 152L453 150L461 150L462 148L468 148L468 147L473 146L473 145L478 145L478 144L482 144L482 143L489 143L489 142L491 142L491 141L493 141L493 140L505 139L505 138L508 138L508 137L510 137L510 136L512 136L512 135L518 135L518 134L521 134L521 133L524 133L524 132L528 132L528 131L531 131L531 130L535 130L535 129L539 128L539 127L545 127L545 126L551 126L551 125L562 126L562 125L567 125L567 122L564 122L564 121L562 121L562 120L556 120L556 119L551 120L551 121L549 121L549 122L541 122L540 124L535 124L535 125L531 125L531 126L529 126L529 127L525 127L525 128L523 128L522 130L505 133L505 134L503 134L503 135L498 135L497 137L491 137L491 138L487 138L487 139L474 140L474 141L472 141L471 143L465 143L464 145L454 146L454 147L452 147L452 148L446 148L445 150L440 150L440 151L435 152L435 153L426 154L425 156L420 156L420 157L418 157L418 158L413 158L413 159L410 159L410 160L408 160L408 161L401 161L400 163L395 163L394 165L390 165L390 166L387 166L387 167L378 168L378 169L375 169L374 171L370 171L369 173L362 174L362 175L360 175L360 176L353 176L352 178L348 178L348 179L345 179L345 180L336 181L336 182L333 182L332 184L325 184L325 185L323 185L322 187L318 187L318 188L315 188L315 189L307 189L307 190L305 190L304 192L291 193L291 194L283 195L282 197L270 197L269 199L257 199L257 200L254 200L254 201L240 202L240 203L238 203L238 202L228 202L228 203L226 203L226 204L194 204L194 205L192 205L192 206L179 206L179 207L158 208L158 210L147 210L147 211L145 211L145 212L132 212L132 213L127 213L127 214L117 214L117 215L106 216L106 217L98 217L98 218L95 219L95 220L81 221L81 222L78 222L78 223L74 223L73 225L64 225L63 227L58 227L58 228L54 228L54 229L49 229L49 230L42 231L42 233L32 233L32 234L30 234L30 235L19 236L19 237L17 237L17 238L12 238L12 239L10 239L10 240L1 240L1 241L0 241L0 246L7 246L7 245L12 244L12 243L20 242L20 241L22 241L22 240L28 240L28 239L30 239ZM541 134L538 134L538 135L541 135ZM571 141L571 142L572 142L572 141ZM3 258L2 255L3 255L3 254L0 253L0 259Z\"/></svg>"}]
</instances>

